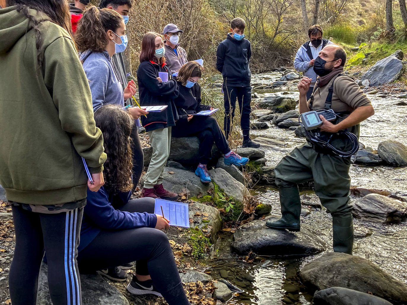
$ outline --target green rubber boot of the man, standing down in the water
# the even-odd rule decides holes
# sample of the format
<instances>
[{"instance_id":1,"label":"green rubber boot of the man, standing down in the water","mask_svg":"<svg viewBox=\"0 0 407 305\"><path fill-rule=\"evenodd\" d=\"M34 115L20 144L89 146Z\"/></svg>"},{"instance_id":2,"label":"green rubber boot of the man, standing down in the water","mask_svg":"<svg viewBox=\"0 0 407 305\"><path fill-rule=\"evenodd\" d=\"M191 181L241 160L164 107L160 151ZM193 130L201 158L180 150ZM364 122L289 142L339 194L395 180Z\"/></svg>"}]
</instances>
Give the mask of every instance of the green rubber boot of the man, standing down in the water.
<instances>
[{"instance_id":1,"label":"green rubber boot of the man, standing down in the water","mask_svg":"<svg viewBox=\"0 0 407 305\"><path fill-rule=\"evenodd\" d=\"M332 217L333 251L352 255L353 248L353 222L352 216Z\"/></svg>"}]
</instances>

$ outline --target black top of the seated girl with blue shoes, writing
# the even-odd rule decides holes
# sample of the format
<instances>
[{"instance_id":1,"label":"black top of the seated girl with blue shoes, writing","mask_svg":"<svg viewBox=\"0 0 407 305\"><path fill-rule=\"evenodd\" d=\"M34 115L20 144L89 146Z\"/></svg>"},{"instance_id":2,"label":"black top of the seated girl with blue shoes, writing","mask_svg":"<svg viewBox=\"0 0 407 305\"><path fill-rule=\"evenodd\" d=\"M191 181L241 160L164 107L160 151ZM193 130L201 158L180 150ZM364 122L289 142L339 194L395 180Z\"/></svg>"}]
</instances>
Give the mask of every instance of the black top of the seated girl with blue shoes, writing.
<instances>
[{"instance_id":1,"label":"black top of the seated girl with blue shoes, writing","mask_svg":"<svg viewBox=\"0 0 407 305\"><path fill-rule=\"evenodd\" d=\"M174 77L177 80L176 77ZM179 122L188 122L188 114L198 113L199 111L209 110L210 105L201 104L201 86L195 83L193 87L187 88L177 81L179 88L178 97L175 98L175 107L177 107Z\"/></svg>"}]
</instances>

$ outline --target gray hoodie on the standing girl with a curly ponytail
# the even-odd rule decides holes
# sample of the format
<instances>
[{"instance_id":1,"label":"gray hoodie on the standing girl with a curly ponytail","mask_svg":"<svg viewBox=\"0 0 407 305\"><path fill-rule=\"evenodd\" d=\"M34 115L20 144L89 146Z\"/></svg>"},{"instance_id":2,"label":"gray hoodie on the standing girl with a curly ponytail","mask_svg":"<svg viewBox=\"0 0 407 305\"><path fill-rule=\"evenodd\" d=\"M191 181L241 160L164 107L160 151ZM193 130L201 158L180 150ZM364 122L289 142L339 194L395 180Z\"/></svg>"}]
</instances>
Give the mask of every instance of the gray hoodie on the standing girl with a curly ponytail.
<instances>
[{"instance_id":1,"label":"gray hoodie on the standing girl with a curly ponytail","mask_svg":"<svg viewBox=\"0 0 407 305\"><path fill-rule=\"evenodd\" d=\"M81 54L80 59L83 61L83 70L85 70L92 92L93 111L104 104L125 107L123 88L118 73L113 68L109 53L87 50Z\"/></svg>"}]
</instances>

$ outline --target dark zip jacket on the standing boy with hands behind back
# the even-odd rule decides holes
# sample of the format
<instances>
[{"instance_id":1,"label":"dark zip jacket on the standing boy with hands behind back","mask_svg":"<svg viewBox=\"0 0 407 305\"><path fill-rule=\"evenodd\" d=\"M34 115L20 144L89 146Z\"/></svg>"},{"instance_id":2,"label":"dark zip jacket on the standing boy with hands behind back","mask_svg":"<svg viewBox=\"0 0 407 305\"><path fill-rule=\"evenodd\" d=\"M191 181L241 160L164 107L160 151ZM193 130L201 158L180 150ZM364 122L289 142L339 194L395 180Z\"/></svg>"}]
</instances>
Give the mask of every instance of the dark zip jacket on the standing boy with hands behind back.
<instances>
[{"instance_id":1,"label":"dark zip jacket on the standing boy with hands behind back","mask_svg":"<svg viewBox=\"0 0 407 305\"><path fill-rule=\"evenodd\" d=\"M250 41L236 40L229 33L216 51L216 68L223 76L223 84L230 87L248 87L252 72L249 61L252 56Z\"/></svg>"}]
</instances>

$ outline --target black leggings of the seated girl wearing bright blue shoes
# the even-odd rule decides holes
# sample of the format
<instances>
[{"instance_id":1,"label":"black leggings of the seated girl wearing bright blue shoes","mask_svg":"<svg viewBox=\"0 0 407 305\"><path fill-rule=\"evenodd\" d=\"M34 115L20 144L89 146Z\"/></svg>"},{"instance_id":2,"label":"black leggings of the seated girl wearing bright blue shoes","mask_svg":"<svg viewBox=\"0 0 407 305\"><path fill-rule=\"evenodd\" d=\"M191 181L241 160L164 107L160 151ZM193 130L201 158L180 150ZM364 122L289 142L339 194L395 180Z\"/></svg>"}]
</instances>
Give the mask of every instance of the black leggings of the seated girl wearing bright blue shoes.
<instances>
[{"instance_id":1,"label":"black leggings of the seated girl wearing bright blue shoes","mask_svg":"<svg viewBox=\"0 0 407 305\"><path fill-rule=\"evenodd\" d=\"M188 123L177 122L171 130L171 136L190 137L195 135L199 139L199 163L208 164L212 157L213 143L223 153L229 153L230 148L225 135L219 128L218 122L212 116L195 115Z\"/></svg>"}]
</instances>

